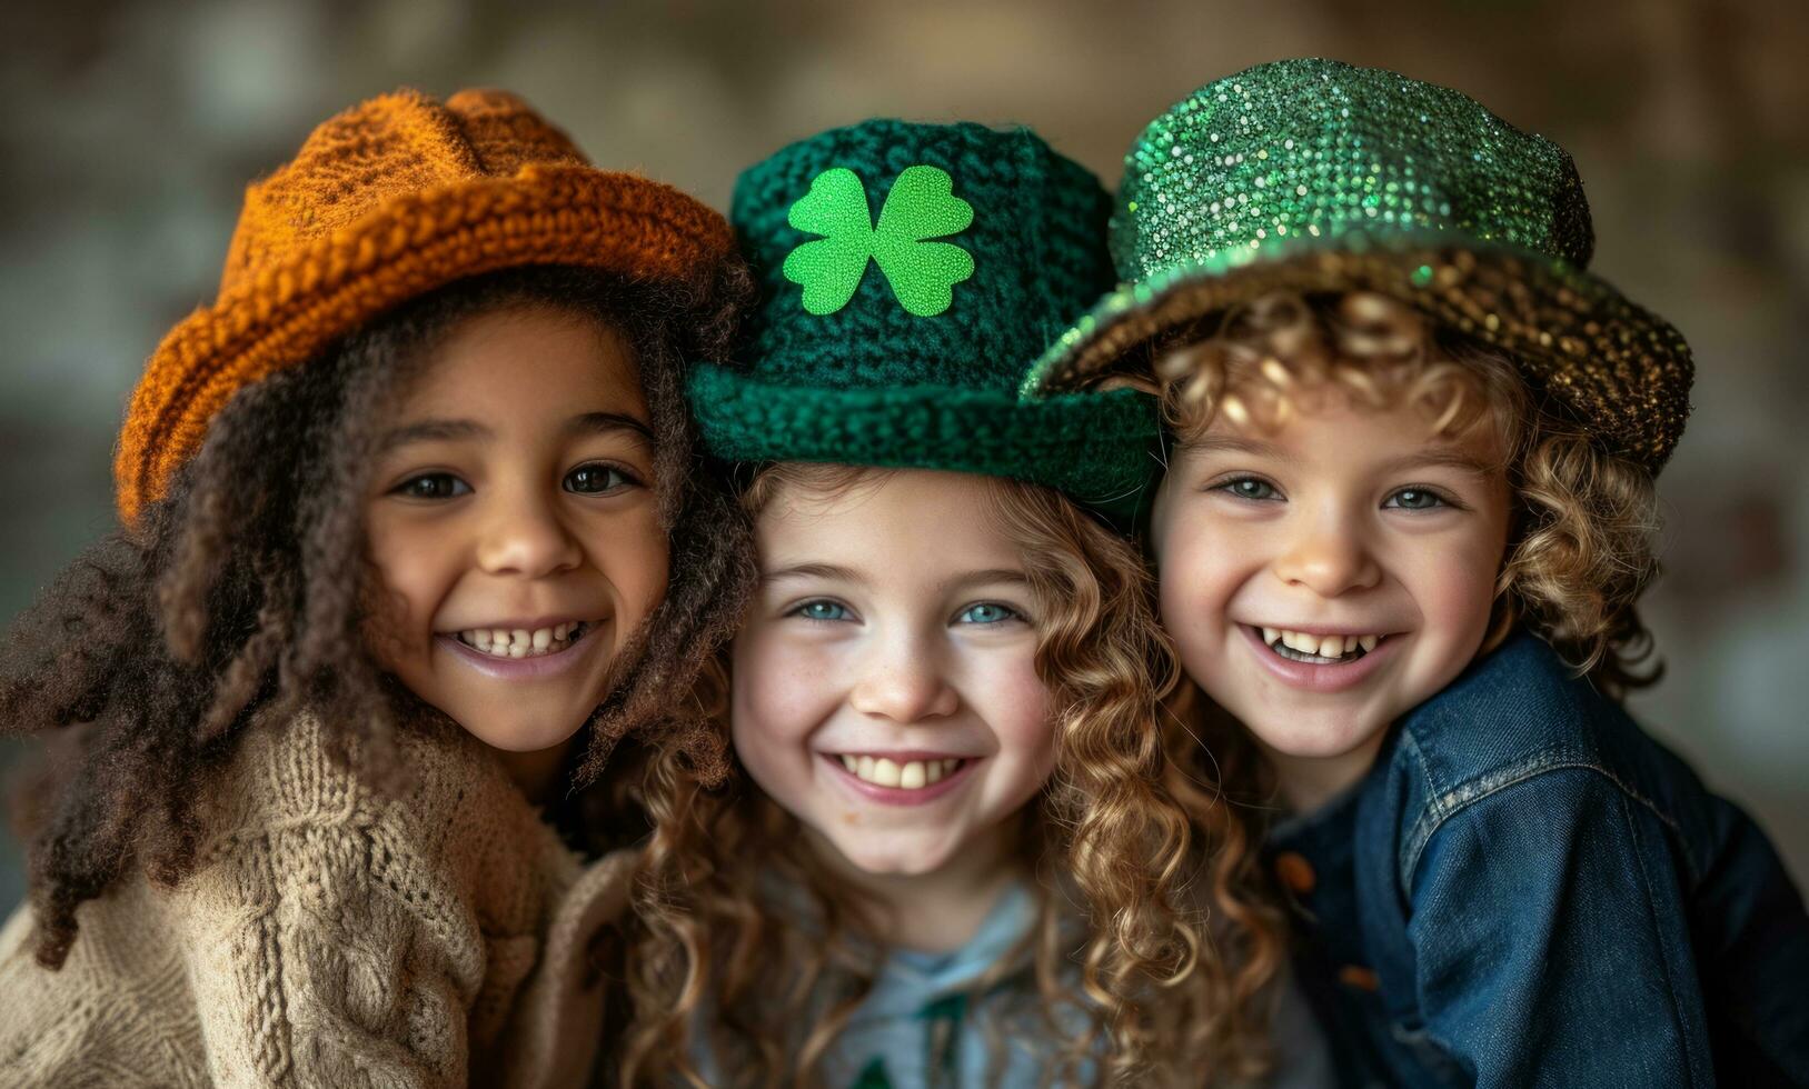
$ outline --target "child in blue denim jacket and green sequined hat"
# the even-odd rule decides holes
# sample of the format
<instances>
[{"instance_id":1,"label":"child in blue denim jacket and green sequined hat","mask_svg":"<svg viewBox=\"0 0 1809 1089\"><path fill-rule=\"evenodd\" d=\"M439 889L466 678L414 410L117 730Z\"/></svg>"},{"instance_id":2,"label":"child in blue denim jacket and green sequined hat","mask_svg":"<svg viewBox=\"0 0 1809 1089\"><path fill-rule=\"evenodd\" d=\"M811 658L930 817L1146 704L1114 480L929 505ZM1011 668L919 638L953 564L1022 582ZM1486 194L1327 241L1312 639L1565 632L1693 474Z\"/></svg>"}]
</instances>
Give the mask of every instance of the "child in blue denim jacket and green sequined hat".
<instances>
[{"instance_id":1,"label":"child in blue denim jacket and green sequined hat","mask_svg":"<svg viewBox=\"0 0 1809 1089\"><path fill-rule=\"evenodd\" d=\"M1234 720L1297 970L1353 1082L1809 1076L1771 845L1621 709L1682 338L1585 270L1568 156L1335 62L1194 92L1127 156L1125 280L1038 393L1158 389L1149 525Z\"/></svg>"}]
</instances>

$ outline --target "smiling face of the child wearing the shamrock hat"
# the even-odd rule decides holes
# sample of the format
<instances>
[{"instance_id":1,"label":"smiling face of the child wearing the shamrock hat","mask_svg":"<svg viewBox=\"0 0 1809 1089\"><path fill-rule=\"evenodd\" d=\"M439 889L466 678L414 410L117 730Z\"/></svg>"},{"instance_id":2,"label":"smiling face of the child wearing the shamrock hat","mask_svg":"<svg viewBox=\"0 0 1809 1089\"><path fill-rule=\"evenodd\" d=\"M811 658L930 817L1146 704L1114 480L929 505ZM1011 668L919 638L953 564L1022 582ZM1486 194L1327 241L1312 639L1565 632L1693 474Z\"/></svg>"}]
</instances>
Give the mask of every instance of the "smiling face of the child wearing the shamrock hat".
<instances>
[{"instance_id":1,"label":"smiling face of the child wearing the shamrock hat","mask_svg":"<svg viewBox=\"0 0 1809 1089\"><path fill-rule=\"evenodd\" d=\"M988 481L785 483L756 539L733 684L754 781L865 874L1004 850L1002 827L1053 769L1055 727L1029 584Z\"/></svg>"}]
</instances>

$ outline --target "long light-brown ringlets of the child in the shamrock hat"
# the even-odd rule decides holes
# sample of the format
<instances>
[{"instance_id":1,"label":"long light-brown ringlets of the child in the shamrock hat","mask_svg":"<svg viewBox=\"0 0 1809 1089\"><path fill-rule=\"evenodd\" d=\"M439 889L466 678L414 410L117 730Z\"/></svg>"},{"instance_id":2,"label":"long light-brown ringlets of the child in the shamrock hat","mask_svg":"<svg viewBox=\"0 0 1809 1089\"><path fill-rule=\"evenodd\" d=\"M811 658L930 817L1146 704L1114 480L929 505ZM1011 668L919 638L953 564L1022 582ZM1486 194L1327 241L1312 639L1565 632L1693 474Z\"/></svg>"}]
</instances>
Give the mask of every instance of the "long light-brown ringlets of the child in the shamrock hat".
<instances>
[{"instance_id":1,"label":"long light-brown ringlets of the child in the shamrock hat","mask_svg":"<svg viewBox=\"0 0 1809 1089\"><path fill-rule=\"evenodd\" d=\"M743 505L758 516L780 488L834 496L883 472L769 465ZM1257 1076L1283 926L1246 892L1252 843L1239 821L1170 758L1196 742L1160 711L1178 666L1143 561L1053 490L993 479L991 508L1024 555L1037 669L1056 709L1056 767L1022 843L1038 876L1022 950L1037 993L1011 1017L1062 1042L1049 1084L1078 1084L1087 1069L1113 1085ZM865 904L745 778L713 791L653 753L642 803L653 834L624 935L635 1018L617 1082L702 1085L691 1049L704 1033L736 1085L819 1084L885 955ZM771 908L774 877L805 890L807 926Z\"/></svg>"}]
</instances>

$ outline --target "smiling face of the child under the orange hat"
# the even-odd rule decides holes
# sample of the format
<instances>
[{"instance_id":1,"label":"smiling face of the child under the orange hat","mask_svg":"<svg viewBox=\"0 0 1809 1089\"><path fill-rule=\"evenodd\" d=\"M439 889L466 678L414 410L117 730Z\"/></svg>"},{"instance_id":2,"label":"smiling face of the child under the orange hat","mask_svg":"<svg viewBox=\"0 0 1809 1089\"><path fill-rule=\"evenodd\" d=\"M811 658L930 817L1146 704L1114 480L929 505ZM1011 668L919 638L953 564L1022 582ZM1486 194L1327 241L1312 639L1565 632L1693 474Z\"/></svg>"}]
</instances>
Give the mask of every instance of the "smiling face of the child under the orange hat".
<instances>
[{"instance_id":1,"label":"smiling face of the child under the orange hat","mask_svg":"<svg viewBox=\"0 0 1809 1089\"><path fill-rule=\"evenodd\" d=\"M488 745L561 745L666 592L631 349L554 309L465 318L378 436L373 653Z\"/></svg>"}]
</instances>

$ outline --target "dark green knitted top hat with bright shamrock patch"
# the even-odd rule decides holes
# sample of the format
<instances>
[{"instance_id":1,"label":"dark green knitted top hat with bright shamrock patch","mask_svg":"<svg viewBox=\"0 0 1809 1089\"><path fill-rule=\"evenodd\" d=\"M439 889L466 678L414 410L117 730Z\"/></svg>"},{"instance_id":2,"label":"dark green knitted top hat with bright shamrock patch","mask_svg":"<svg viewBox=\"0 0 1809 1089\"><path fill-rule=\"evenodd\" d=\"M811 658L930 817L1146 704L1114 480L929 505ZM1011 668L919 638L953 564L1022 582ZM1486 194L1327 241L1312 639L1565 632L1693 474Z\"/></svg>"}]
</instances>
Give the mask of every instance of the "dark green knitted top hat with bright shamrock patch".
<instances>
[{"instance_id":1,"label":"dark green knitted top hat with bright shamrock patch","mask_svg":"<svg viewBox=\"0 0 1809 1089\"><path fill-rule=\"evenodd\" d=\"M738 365L698 365L733 461L950 469L1134 505L1158 434L1132 391L1018 384L1113 284L1111 197L1026 128L876 119L747 168L731 221L762 289Z\"/></svg>"}]
</instances>

